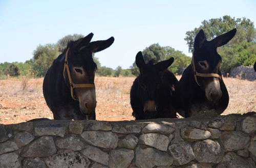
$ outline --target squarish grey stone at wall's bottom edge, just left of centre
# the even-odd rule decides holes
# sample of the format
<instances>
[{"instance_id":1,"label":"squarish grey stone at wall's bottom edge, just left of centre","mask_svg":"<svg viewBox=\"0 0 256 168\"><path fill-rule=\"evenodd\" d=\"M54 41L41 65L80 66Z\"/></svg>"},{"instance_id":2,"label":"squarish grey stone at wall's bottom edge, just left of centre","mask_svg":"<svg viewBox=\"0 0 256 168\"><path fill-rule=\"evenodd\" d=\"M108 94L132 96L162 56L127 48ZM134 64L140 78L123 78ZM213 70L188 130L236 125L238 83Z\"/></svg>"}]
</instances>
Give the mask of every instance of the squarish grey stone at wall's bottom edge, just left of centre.
<instances>
[{"instance_id":1,"label":"squarish grey stone at wall's bottom edge, just left of centre","mask_svg":"<svg viewBox=\"0 0 256 168\"><path fill-rule=\"evenodd\" d=\"M126 168L134 158L134 151L129 149L116 149L110 152L109 167Z\"/></svg>"}]
</instances>

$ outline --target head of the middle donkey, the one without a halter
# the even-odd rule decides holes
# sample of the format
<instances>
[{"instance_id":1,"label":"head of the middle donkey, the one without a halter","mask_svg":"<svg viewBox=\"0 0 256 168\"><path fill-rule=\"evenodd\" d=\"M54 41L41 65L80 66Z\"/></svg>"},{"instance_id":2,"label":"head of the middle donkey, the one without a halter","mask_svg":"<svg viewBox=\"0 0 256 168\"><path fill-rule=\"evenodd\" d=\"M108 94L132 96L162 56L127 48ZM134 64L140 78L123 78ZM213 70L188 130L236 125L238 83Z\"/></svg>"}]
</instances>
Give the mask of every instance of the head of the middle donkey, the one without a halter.
<instances>
[{"instance_id":1,"label":"head of the middle donkey, the one without a halter","mask_svg":"<svg viewBox=\"0 0 256 168\"><path fill-rule=\"evenodd\" d=\"M142 52L136 55L136 65L140 70L139 79L139 92L143 104L143 111L147 118L153 118L157 110L157 90L161 84L162 72L166 70L174 62L174 58L155 63L151 60L147 64L143 59Z\"/></svg>"}]
</instances>

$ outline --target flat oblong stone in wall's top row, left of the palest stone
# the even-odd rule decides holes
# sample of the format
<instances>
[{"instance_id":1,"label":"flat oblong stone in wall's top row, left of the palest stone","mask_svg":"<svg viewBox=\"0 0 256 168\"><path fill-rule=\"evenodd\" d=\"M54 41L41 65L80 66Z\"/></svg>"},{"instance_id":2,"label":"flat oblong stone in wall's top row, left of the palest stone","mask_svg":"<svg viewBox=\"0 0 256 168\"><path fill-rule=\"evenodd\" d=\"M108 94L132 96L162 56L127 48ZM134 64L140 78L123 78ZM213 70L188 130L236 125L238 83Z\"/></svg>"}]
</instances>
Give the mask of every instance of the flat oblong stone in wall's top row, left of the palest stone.
<instances>
[{"instance_id":1,"label":"flat oblong stone in wall's top row, left of the palest stone","mask_svg":"<svg viewBox=\"0 0 256 168\"><path fill-rule=\"evenodd\" d=\"M131 133L140 133L141 127L138 125L114 125L112 132L122 133L122 134L131 134Z\"/></svg>"}]
</instances>

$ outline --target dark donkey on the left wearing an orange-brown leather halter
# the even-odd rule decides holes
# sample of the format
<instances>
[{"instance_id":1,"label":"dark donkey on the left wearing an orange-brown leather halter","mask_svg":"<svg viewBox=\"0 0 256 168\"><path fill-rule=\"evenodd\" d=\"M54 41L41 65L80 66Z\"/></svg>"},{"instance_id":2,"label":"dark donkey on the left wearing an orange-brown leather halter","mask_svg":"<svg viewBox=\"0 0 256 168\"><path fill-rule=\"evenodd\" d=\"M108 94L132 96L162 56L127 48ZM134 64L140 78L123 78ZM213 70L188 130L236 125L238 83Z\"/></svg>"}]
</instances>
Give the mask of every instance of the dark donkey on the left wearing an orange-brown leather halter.
<instances>
[{"instance_id":1,"label":"dark donkey on the left wearing an orange-brown leather halter","mask_svg":"<svg viewBox=\"0 0 256 168\"><path fill-rule=\"evenodd\" d=\"M97 65L92 53L111 46L114 38L90 42L93 34L70 41L46 73L43 92L55 120L95 120L94 77Z\"/></svg>"}]
</instances>

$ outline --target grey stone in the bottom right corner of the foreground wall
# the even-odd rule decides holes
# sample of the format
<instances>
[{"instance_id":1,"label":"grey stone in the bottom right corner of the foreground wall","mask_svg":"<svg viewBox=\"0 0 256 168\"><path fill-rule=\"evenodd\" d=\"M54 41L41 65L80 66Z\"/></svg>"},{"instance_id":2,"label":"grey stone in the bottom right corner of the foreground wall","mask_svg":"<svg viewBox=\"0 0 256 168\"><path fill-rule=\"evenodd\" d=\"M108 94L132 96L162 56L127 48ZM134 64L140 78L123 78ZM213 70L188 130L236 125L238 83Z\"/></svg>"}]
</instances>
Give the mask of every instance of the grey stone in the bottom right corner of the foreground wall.
<instances>
[{"instance_id":1,"label":"grey stone in the bottom right corner of the foreground wall","mask_svg":"<svg viewBox=\"0 0 256 168\"><path fill-rule=\"evenodd\" d=\"M222 161L218 164L217 168L237 168L237 167L246 167L253 168L255 163L251 159L242 158L236 155L233 152L227 153Z\"/></svg>"}]
</instances>

